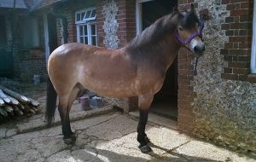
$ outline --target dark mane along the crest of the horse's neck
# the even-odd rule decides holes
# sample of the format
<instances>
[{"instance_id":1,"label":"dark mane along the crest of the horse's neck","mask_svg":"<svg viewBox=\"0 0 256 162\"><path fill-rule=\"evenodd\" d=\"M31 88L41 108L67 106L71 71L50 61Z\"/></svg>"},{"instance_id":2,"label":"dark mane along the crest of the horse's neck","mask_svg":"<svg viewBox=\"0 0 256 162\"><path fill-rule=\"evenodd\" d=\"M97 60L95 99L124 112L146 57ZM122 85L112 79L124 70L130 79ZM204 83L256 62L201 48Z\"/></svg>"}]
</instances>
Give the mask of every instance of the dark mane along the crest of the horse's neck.
<instances>
[{"instance_id":1,"label":"dark mane along the crest of the horse's neck","mask_svg":"<svg viewBox=\"0 0 256 162\"><path fill-rule=\"evenodd\" d=\"M155 43L155 41L157 41L166 32L173 32L177 26L173 20L175 14L177 14L177 12L166 14L156 20L154 24L148 26L141 34L137 35L136 38L133 38L125 47L128 49L143 47L148 43ZM178 15L178 17L182 16L181 14Z\"/></svg>"}]
</instances>

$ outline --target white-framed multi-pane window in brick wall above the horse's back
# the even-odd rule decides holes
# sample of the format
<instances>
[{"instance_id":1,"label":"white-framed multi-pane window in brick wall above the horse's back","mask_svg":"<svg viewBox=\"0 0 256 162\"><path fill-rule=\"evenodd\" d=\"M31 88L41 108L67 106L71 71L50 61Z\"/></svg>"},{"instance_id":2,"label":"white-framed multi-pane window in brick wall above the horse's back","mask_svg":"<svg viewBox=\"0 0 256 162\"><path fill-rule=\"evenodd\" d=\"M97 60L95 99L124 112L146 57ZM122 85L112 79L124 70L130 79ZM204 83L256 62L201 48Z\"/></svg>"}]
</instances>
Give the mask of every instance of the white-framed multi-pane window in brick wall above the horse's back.
<instances>
[{"instance_id":1,"label":"white-framed multi-pane window in brick wall above the horse's back","mask_svg":"<svg viewBox=\"0 0 256 162\"><path fill-rule=\"evenodd\" d=\"M97 45L96 9L83 9L76 12L77 40L79 43Z\"/></svg>"}]
</instances>

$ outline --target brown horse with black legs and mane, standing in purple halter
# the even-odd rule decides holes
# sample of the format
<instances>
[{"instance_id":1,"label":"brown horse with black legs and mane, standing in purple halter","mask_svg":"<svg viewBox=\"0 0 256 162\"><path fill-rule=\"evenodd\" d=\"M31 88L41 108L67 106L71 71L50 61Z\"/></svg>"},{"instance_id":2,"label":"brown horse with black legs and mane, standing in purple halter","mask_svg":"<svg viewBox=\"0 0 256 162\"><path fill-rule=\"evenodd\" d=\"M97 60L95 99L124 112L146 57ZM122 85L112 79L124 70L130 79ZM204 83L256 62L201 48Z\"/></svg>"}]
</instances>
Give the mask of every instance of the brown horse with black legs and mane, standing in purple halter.
<instances>
[{"instance_id":1,"label":"brown horse with black legs and mane, standing in purple halter","mask_svg":"<svg viewBox=\"0 0 256 162\"><path fill-rule=\"evenodd\" d=\"M162 87L167 69L182 46L195 55L205 49L198 31L200 20L191 5L189 12L167 14L156 20L122 49L105 49L82 43L63 44L51 53L46 119L52 122L56 95L61 116L64 142L71 144L75 136L70 127L69 112L79 91L88 89L98 95L113 97L138 96L140 108L137 141L143 153L151 151L145 126L148 108ZM192 37L192 38L191 38ZM54 89L53 89L54 88Z\"/></svg>"}]
</instances>

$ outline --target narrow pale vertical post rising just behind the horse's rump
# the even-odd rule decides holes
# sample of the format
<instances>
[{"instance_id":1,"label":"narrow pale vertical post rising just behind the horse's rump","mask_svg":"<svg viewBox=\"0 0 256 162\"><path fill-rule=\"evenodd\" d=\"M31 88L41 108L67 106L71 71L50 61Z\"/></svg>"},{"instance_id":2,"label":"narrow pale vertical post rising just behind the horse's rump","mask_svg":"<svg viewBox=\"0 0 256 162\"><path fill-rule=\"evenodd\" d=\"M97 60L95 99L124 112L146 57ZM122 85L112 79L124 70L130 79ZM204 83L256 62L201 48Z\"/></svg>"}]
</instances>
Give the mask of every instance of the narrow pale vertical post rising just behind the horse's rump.
<instances>
[{"instance_id":1,"label":"narrow pale vertical post rising just behind the horse's rump","mask_svg":"<svg viewBox=\"0 0 256 162\"><path fill-rule=\"evenodd\" d=\"M44 55L45 55L45 61L46 64L48 63L49 58L49 31L48 31L48 20L47 20L47 14L43 14L44 19Z\"/></svg>"}]
</instances>

